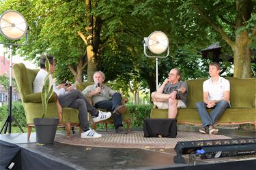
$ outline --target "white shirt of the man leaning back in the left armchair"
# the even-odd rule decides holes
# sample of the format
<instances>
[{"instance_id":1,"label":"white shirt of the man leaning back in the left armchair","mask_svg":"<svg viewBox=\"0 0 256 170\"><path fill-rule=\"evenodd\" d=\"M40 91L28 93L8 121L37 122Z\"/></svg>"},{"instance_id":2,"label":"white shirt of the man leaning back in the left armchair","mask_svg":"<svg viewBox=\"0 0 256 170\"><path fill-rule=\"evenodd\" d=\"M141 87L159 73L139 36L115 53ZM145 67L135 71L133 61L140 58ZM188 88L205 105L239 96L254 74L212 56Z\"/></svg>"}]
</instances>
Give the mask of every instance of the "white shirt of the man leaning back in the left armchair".
<instances>
[{"instance_id":1,"label":"white shirt of the man leaning back in the left armchair","mask_svg":"<svg viewBox=\"0 0 256 170\"><path fill-rule=\"evenodd\" d=\"M47 71L44 69L40 69L38 74L35 76L35 80L33 80L33 92L42 92L42 87L44 86L44 78L47 75ZM53 82L53 76L49 75L50 84L53 85L53 91L56 92L57 96L64 95L66 90L64 88L60 88L59 90L55 86L55 82Z\"/></svg>"}]
</instances>

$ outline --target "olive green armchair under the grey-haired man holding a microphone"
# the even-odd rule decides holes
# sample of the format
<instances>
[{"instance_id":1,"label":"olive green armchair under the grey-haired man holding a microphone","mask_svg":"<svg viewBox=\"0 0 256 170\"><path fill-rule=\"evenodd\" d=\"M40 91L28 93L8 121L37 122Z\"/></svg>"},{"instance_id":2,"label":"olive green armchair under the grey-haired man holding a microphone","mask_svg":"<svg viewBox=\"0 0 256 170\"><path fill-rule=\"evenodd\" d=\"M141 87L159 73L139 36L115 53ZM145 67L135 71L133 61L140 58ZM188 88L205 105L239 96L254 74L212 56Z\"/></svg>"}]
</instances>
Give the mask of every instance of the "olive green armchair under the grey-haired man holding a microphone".
<instances>
[{"instance_id":1,"label":"olive green armchair under the grey-haired man holding a microphone","mask_svg":"<svg viewBox=\"0 0 256 170\"><path fill-rule=\"evenodd\" d=\"M76 89L83 91L87 86L94 84L93 82L82 82L76 85ZM89 100L89 102L92 104L92 99L90 97L87 97L87 99ZM122 104L124 105L125 103L127 103L128 99L126 97L122 97ZM103 112L107 112L105 109L100 109ZM90 122L92 123L92 127L93 129L96 129L96 123L91 121L91 118L89 118ZM130 110L126 107L126 112L124 114L122 114L122 120L123 122L126 122L126 129L127 131L130 131ZM104 123L105 124L105 128L106 131L108 130L108 124L113 124L113 116L111 116L109 119L104 120L104 121L100 121L97 123Z\"/></svg>"}]
</instances>

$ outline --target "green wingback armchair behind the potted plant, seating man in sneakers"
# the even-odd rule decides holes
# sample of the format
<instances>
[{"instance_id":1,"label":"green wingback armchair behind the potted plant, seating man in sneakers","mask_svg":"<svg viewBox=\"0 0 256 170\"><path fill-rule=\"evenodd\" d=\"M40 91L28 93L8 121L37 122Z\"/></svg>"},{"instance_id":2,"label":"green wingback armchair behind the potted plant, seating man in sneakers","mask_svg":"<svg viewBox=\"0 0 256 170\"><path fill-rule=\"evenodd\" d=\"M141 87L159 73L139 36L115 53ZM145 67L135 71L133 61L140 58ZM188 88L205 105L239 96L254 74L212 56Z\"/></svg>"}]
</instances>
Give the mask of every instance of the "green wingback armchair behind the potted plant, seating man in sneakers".
<instances>
[{"instance_id":1,"label":"green wingback armchair behind the potted plant, seating man in sneakers","mask_svg":"<svg viewBox=\"0 0 256 170\"><path fill-rule=\"evenodd\" d=\"M14 78L20 92L21 101L25 109L27 120L27 140L30 138L33 125L33 118L41 118L43 114L41 92L33 92L33 80L39 69L27 69L23 63L13 66ZM48 118L60 118L60 125L66 126L67 138L70 139L71 126L79 126L79 110L69 107L62 109L62 114L58 114L57 95L48 101ZM81 131L81 130L80 130Z\"/></svg>"}]
</instances>

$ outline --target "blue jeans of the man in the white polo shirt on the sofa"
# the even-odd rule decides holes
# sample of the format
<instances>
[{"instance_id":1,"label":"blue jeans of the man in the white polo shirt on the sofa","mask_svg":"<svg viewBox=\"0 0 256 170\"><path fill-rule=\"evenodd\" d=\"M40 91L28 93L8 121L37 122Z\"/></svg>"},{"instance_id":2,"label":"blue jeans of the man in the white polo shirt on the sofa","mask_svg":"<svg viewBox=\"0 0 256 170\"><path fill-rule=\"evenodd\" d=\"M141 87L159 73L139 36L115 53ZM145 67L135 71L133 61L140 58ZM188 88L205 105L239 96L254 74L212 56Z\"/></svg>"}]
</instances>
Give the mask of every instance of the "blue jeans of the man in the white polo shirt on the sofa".
<instances>
[{"instance_id":1,"label":"blue jeans of the man in the white polo shirt on the sofa","mask_svg":"<svg viewBox=\"0 0 256 170\"><path fill-rule=\"evenodd\" d=\"M205 128L209 125L214 125L216 120L221 116L221 114L223 114L227 107L229 107L229 103L225 100L221 100L214 105L214 109L210 114L208 114L206 111L206 108L208 108L206 104L204 102L197 102L197 112L201 117L203 127Z\"/></svg>"}]
</instances>

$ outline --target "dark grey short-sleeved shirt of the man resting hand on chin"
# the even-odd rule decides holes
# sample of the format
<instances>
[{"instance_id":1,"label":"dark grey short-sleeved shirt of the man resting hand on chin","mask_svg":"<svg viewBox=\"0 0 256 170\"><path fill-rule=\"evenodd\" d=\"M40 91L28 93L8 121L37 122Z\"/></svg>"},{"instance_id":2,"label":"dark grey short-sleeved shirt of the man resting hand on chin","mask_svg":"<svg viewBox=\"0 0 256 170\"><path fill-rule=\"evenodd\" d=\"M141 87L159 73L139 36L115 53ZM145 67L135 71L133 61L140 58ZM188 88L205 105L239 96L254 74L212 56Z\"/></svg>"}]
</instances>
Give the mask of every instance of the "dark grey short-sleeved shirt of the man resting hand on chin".
<instances>
[{"instance_id":1,"label":"dark grey short-sleeved shirt of the man resting hand on chin","mask_svg":"<svg viewBox=\"0 0 256 170\"><path fill-rule=\"evenodd\" d=\"M164 90L163 90L162 93L170 94L174 90L177 90L181 87L186 88L186 92L184 92L184 95L181 95L181 100L183 101L183 103L186 104L186 98L188 97L188 84L186 84L186 82L180 81L180 82L177 82L175 84L168 83L168 84L165 85Z\"/></svg>"}]
</instances>

